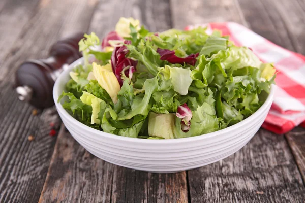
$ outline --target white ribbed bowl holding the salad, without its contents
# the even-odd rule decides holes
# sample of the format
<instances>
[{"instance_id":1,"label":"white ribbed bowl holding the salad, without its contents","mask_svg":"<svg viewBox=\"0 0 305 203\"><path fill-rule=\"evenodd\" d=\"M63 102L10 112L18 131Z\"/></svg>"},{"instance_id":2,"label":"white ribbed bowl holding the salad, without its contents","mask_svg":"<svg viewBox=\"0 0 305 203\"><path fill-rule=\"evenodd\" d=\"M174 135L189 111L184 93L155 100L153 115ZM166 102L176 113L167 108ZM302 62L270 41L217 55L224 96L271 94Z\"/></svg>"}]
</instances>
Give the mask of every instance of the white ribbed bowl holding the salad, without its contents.
<instances>
[{"instance_id":1,"label":"white ribbed bowl holding the salad, without its contents","mask_svg":"<svg viewBox=\"0 0 305 203\"><path fill-rule=\"evenodd\" d=\"M136 170L171 173L214 163L245 146L259 130L271 107L274 89L257 112L225 129L191 138L147 140L126 138L90 128L74 119L57 103L69 72L82 63L79 59L60 74L53 88L53 98L60 118L74 139L93 155L110 163Z\"/></svg>"}]
</instances>

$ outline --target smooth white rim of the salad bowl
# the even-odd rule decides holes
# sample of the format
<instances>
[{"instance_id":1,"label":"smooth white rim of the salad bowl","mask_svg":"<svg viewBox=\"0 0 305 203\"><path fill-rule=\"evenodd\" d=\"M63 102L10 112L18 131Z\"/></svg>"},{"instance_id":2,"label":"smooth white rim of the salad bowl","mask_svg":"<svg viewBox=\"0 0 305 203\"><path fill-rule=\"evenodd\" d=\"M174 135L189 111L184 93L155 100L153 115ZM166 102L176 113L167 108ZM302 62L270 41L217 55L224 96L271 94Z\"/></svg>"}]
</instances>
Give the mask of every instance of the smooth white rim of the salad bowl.
<instances>
[{"instance_id":1,"label":"smooth white rim of the salad bowl","mask_svg":"<svg viewBox=\"0 0 305 203\"><path fill-rule=\"evenodd\" d=\"M188 141L198 141L198 140L203 140L203 139L208 139L208 138L212 138L212 137L216 137L216 136L220 136L221 134L225 134L228 132L231 132L239 127L243 127L249 123L251 123L252 121L255 120L255 118L263 113L266 108L268 107L268 105L270 105L270 103L272 103L273 100L273 95L275 94L275 85L271 85L270 87L270 93L267 97L267 99L265 100L264 104L256 111L254 112L251 116L249 116L248 118L246 118L245 120L240 121L239 123L236 123L232 126L229 126L227 128L215 131L215 132L210 132L207 134L201 134L199 136L194 136L194 137L188 137L188 138L178 138L178 139L161 139L161 140L153 140L153 139L139 139L139 138L129 138L129 137L123 137L123 136L117 136L116 134L111 134L108 132L104 132L101 130L97 130L94 129L92 127L89 127L83 123L81 123L80 121L76 120L73 116L71 116L62 106L61 103L57 103L58 100L58 88L60 87L60 83L63 80L63 78L68 74L69 72L74 68L75 65L77 64L81 64L83 62L83 58L79 58L78 60L74 61L73 63L71 63L69 66L67 66L62 73L60 73L60 75L58 76L57 80L55 81L54 87L53 87L53 99L54 99L54 103L56 106L56 109L58 111L58 113L61 113L62 116L64 116L67 120L69 120L73 125L78 126L79 128L82 128L83 130L87 131L88 133L93 133L93 134L98 134L99 136L102 136L104 138L107 139L113 139L115 141L125 141L125 142L134 142L134 143L143 143L143 144L148 144L148 143L167 143L167 144L175 144L175 143L186 143ZM60 117L62 117L60 116Z\"/></svg>"}]
</instances>

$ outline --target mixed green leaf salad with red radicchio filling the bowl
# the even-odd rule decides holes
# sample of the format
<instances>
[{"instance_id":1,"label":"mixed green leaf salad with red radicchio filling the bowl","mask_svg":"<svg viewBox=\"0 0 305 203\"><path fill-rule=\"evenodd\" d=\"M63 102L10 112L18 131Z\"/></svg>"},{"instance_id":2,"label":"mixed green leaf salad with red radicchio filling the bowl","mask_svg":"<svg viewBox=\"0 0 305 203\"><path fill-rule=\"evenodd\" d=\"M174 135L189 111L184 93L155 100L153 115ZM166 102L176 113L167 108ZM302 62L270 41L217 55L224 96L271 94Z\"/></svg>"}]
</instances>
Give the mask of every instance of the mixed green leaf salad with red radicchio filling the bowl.
<instances>
[{"instance_id":1,"label":"mixed green leaf salad with red radicchio filling the bowl","mask_svg":"<svg viewBox=\"0 0 305 203\"><path fill-rule=\"evenodd\" d=\"M102 41L86 34L83 64L58 102L85 125L124 137L186 138L234 125L264 103L275 68L205 31L150 32L120 18Z\"/></svg>"}]
</instances>

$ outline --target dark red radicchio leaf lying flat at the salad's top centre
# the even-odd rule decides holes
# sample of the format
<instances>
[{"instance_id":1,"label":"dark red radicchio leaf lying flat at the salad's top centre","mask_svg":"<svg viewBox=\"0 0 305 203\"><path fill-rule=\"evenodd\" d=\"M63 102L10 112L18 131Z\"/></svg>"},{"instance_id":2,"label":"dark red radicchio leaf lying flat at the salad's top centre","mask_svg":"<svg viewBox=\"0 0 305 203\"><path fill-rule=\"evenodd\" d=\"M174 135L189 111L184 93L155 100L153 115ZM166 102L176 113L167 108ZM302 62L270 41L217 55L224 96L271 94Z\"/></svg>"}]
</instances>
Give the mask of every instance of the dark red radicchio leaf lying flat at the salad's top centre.
<instances>
[{"instance_id":1,"label":"dark red radicchio leaf lying flat at the salad's top centre","mask_svg":"<svg viewBox=\"0 0 305 203\"><path fill-rule=\"evenodd\" d=\"M175 55L175 51L171 51L168 49L157 49L157 52L160 54L160 59L161 60L167 60L170 63L188 63L190 65L195 65L196 63L196 58L198 57L199 53L197 54L190 54L189 56L185 58L180 58Z\"/></svg>"}]
</instances>

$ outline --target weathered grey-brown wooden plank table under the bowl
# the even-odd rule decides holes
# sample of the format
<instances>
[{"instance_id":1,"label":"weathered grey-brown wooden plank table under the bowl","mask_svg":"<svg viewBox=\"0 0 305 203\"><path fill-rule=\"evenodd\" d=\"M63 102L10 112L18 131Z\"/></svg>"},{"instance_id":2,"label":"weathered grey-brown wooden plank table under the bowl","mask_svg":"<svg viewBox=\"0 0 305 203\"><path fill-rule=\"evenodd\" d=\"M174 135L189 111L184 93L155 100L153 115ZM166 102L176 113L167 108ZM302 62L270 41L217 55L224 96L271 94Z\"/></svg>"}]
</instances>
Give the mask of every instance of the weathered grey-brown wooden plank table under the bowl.
<instances>
[{"instance_id":1,"label":"weathered grey-brown wooden plank table under the bowl","mask_svg":"<svg viewBox=\"0 0 305 203\"><path fill-rule=\"evenodd\" d=\"M235 21L276 44L305 54L303 0L1 0L1 202L304 202L305 130L264 129L230 157L174 174L135 171L89 154L62 126L54 108L33 115L17 99L14 72L44 58L61 37L95 31L102 37L120 16L150 30ZM28 141L32 134L34 141Z\"/></svg>"}]
</instances>

